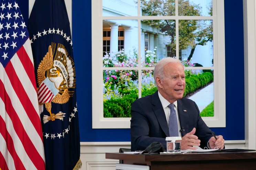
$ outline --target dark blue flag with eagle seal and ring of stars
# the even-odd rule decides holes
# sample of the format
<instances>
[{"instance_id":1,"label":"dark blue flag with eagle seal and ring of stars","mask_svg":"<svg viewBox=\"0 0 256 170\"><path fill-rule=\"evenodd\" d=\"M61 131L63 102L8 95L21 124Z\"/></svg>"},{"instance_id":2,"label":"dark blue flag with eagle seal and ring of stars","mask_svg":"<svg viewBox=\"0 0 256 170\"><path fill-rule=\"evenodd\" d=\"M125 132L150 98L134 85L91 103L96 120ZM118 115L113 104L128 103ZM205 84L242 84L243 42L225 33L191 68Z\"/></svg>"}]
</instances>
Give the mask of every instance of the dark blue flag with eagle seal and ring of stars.
<instances>
[{"instance_id":1,"label":"dark blue flag with eagle seal and ring of stars","mask_svg":"<svg viewBox=\"0 0 256 170\"><path fill-rule=\"evenodd\" d=\"M46 169L82 166L76 72L64 0L35 0L29 17Z\"/></svg>"}]
</instances>

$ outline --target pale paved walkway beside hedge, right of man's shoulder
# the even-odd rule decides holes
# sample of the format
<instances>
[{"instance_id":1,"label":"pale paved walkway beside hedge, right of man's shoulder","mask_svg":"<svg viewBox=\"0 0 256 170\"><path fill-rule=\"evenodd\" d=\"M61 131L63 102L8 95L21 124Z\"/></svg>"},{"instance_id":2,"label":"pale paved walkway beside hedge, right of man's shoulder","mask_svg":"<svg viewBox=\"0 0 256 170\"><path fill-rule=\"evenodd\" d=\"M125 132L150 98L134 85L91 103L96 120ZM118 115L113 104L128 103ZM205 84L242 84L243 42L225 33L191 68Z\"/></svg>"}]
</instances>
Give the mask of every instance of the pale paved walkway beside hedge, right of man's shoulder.
<instances>
[{"instance_id":1,"label":"pale paved walkway beside hedge, right of man's shoulder","mask_svg":"<svg viewBox=\"0 0 256 170\"><path fill-rule=\"evenodd\" d=\"M199 111L202 112L214 100L213 82L190 96L189 99L193 100L198 105Z\"/></svg>"}]
</instances>

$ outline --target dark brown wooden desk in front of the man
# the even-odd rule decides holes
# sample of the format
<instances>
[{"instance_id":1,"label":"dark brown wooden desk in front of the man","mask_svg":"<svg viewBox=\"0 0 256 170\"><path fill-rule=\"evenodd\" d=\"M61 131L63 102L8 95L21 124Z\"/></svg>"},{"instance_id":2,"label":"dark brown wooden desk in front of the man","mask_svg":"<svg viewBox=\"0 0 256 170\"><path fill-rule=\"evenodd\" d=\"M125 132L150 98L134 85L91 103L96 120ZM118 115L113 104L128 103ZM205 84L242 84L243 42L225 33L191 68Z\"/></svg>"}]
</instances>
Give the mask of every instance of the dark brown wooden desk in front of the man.
<instances>
[{"instance_id":1,"label":"dark brown wooden desk in front of the man","mask_svg":"<svg viewBox=\"0 0 256 170\"><path fill-rule=\"evenodd\" d=\"M147 165L151 170L165 169L256 169L256 151L193 152L186 154L106 153L106 159L124 160L125 164Z\"/></svg>"}]
</instances>

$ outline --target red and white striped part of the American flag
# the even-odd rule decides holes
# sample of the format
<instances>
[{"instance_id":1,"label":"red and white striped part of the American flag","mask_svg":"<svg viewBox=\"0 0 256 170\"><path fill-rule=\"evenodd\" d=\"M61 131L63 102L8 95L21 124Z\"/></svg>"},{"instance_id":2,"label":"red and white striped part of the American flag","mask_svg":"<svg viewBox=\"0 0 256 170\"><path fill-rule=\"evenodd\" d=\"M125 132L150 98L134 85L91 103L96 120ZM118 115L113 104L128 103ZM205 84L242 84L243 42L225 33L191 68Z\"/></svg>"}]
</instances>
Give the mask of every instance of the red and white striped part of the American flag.
<instances>
[{"instance_id":1,"label":"red and white striped part of the American flag","mask_svg":"<svg viewBox=\"0 0 256 170\"><path fill-rule=\"evenodd\" d=\"M42 126L30 40L0 64L0 168L45 169Z\"/></svg>"}]
</instances>

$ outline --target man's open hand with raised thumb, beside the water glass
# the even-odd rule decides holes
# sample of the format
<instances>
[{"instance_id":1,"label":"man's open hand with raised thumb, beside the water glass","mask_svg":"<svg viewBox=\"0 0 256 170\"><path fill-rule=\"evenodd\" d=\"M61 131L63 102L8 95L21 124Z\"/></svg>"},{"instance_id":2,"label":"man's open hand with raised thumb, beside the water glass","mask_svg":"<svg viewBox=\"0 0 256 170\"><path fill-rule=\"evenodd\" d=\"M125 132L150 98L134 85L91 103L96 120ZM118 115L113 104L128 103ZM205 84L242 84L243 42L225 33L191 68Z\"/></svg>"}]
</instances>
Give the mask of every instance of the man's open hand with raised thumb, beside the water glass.
<instances>
[{"instance_id":1,"label":"man's open hand with raised thumb, beside the water glass","mask_svg":"<svg viewBox=\"0 0 256 170\"><path fill-rule=\"evenodd\" d=\"M182 137L181 140L181 150L187 150L187 149L192 149L195 150L197 149L196 147L193 146L200 146L200 140L198 139L195 134L195 128L189 133L187 133L185 136Z\"/></svg>"}]
</instances>

